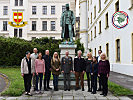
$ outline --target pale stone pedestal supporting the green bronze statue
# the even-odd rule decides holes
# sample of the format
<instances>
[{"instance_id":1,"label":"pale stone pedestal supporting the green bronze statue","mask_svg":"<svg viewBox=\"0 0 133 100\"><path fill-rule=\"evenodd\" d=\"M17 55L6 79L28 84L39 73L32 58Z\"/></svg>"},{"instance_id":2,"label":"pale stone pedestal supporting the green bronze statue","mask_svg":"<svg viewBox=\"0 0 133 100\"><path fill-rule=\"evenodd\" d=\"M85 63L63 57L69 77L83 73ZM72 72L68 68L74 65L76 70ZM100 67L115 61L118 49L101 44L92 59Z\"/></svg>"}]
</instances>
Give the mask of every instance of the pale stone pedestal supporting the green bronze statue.
<instances>
[{"instance_id":1,"label":"pale stone pedestal supporting the green bronze statue","mask_svg":"<svg viewBox=\"0 0 133 100\"><path fill-rule=\"evenodd\" d=\"M77 45L67 45L67 44L60 44L59 48L61 50L60 53L60 58L62 59L62 57L65 56L66 51L69 51L69 56L71 56L73 58L75 58L75 49L77 48ZM59 75L59 79L58 79L58 87L59 89L64 89L64 78L63 78L63 74ZM75 75L73 73L71 73L71 89L75 88Z\"/></svg>"}]
</instances>

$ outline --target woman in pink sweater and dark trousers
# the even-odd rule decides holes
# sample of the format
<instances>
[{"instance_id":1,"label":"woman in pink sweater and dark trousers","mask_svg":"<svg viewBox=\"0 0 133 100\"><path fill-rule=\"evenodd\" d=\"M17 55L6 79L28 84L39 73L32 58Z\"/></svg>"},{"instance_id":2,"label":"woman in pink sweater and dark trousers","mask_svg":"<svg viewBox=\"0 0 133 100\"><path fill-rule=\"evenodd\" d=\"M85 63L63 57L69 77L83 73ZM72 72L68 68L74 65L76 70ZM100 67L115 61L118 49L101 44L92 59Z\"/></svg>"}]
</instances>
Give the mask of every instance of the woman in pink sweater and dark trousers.
<instances>
[{"instance_id":1,"label":"woman in pink sweater and dark trousers","mask_svg":"<svg viewBox=\"0 0 133 100\"><path fill-rule=\"evenodd\" d=\"M35 71L36 71L36 93L38 93L38 80L40 79L40 92L42 89L42 79L45 73L45 61L42 59L42 53L38 54L38 58L35 60Z\"/></svg>"}]
</instances>

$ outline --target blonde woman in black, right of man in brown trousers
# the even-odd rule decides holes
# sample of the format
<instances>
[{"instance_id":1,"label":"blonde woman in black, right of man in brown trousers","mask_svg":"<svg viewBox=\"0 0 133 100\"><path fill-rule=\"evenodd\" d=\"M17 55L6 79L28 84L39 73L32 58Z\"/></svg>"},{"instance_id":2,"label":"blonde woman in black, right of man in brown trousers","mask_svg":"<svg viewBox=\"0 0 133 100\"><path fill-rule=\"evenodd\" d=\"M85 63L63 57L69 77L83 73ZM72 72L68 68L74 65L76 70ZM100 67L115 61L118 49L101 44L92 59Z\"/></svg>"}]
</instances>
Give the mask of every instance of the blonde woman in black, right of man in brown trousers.
<instances>
[{"instance_id":1,"label":"blonde woman in black, right of man in brown trousers","mask_svg":"<svg viewBox=\"0 0 133 100\"><path fill-rule=\"evenodd\" d=\"M85 60L86 63L86 75L87 75L87 83L88 83L88 92L91 92L92 89L90 88L90 67L92 63L92 54L89 52L87 54L87 59Z\"/></svg>"}]
</instances>

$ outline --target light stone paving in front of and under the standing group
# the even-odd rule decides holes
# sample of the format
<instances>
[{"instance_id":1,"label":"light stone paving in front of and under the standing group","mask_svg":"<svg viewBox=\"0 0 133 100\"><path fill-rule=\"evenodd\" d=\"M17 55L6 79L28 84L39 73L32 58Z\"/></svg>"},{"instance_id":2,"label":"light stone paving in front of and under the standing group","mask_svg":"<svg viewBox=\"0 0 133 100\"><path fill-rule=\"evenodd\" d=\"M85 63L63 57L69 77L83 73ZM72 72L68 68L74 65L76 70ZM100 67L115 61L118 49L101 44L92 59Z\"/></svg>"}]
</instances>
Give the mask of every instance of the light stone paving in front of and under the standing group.
<instances>
[{"instance_id":1,"label":"light stone paving in front of and under the standing group","mask_svg":"<svg viewBox=\"0 0 133 100\"><path fill-rule=\"evenodd\" d=\"M52 86L52 81L50 82L50 87ZM42 94L35 94L35 92L32 91L33 96L25 96L22 95L21 97L0 97L0 100L131 100L128 97L115 97L110 92L108 93L107 97L103 97L100 95L101 92L97 92L97 94L91 94L90 92L87 92L87 86L85 83L85 91L48 91L43 92Z\"/></svg>"}]
</instances>

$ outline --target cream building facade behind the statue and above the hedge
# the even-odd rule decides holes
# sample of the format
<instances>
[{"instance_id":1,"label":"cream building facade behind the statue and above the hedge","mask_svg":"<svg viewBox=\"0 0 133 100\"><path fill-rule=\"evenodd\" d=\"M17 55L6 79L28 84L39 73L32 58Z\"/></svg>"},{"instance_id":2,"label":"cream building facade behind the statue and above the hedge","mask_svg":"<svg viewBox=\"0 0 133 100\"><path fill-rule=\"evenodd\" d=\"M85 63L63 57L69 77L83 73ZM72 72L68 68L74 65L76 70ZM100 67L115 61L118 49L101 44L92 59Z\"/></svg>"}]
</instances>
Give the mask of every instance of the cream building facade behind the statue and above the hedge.
<instances>
[{"instance_id":1,"label":"cream building facade behind the statue and above the hedge","mask_svg":"<svg viewBox=\"0 0 133 100\"><path fill-rule=\"evenodd\" d=\"M0 36L60 39L60 18L66 3L75 13L75 0L0 0ZM13 12L23 12L23 21L28 24L21 28L10 26L8 22L13 21Z\"/></svg>"}]
</instances>

